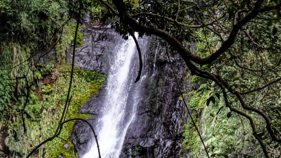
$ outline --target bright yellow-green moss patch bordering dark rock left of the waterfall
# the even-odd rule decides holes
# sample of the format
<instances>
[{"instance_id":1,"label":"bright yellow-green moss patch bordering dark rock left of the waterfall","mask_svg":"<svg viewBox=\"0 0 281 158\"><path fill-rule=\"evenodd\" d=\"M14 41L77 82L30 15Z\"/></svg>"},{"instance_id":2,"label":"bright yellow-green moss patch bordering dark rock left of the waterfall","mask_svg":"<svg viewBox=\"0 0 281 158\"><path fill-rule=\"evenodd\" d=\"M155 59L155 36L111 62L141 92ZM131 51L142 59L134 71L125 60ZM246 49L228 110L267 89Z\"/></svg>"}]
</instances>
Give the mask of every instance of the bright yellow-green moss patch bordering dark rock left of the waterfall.
<instances>
[{"instance_id":1,"label":"bright yellow-green moss patch bordering dark rock left of the waterfall","mask_svg":"<svg viewBox=\"0 0 281 158\"><path fill-rule=\"evenodd\" d=\"M71 67L63 66L60 69L61 77L56 82L58 87L61 88L61 97L60 101L64 101L67 95L68 84L65 86L65 83L69 83L71 75ZM69 105L68 113L66 116L67 119L72 118L87 118L89 114L79 114L79 108L90 99L91 96L98 93L98 90L102 87L102 84L105 81L105 76L93 71L80 70L77 67L74 68L74 77L73 77L73 87L71 91L72 100ZM63 106L60 106L63 108ZM62 109L61 109L62 110ZM60 137L64 140L67 140L72 133L72 129L75 121L67 122L60 134ZM46 153L50 153L51 157L57 157L59 154L65 157L74 157L74 150L71 142L67 140L66 142L62 139L56 138L54 141L48 143ZM65 149L63 145L67 143L68 149ZM49 154L47 154L49 155Z\"/></svg>"}]
</instances>

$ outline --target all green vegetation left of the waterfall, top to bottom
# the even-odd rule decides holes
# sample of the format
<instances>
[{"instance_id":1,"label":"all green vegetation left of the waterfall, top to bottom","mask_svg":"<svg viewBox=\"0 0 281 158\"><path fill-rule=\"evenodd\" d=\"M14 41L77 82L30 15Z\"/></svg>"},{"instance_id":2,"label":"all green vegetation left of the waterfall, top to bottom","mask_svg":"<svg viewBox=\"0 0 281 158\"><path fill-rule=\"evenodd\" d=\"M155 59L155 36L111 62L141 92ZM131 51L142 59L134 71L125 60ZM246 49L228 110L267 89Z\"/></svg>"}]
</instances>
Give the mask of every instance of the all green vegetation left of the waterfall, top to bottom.
<instances>
[{"instance_id":1,"label":"all green vegetation left of the waterfall, top to bottom","mask_svg":"<svg viewBox=\"0 0 281 158\"><path fill-rule=\"evenodd\" d=\"M88 8L83 1L82 14ZM46 138L53 136L70 80L65 53L73 43L79 4L63 0L0 0L0 129L8 128L5 144L12 157L26 157ZM83 45L78 32L76 45ZM57 61L38 64L32 57L38 50L55 47ZM54 63L62 65L56 65ZM97 94L104 75L75 68L72 100L66 119L87 118L78 109ZM74 157L68 137L74 122L64 125L60 138L36 151L39 157ZM35 156L35 155L34 155Z\"/></svg>"}]
</instances>

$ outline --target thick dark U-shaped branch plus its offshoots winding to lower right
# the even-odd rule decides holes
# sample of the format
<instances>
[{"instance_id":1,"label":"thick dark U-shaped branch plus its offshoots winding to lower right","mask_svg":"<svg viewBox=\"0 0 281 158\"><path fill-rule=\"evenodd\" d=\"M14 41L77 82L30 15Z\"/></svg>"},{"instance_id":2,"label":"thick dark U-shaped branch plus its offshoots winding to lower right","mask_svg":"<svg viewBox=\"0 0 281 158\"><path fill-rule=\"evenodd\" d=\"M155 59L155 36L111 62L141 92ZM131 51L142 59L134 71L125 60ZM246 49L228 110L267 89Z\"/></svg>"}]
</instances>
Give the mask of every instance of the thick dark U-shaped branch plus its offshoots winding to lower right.
<instances>
[{"instance_id":1,"label":"thick dark U-shaped branch plus its offshoots winding to lower right","mask_svg":"<svg viewBox=\"0 0 281 158\"><path fill-rule=\"evenodd\" d=\"M203 77L203 78L209 79L211 81L214 81L224 91L225 94L226 94L226 92L225 92L224 89L227 88L227 90L229 90L229 92L231 94L234 94L234 95L237 96L237 98L239 99L243 109L248 110L248 111L252 111L252 112L255 112L255 113L261 115L267 123L266 128L267 128L272 140L277 141L277 142L281 142L281 139L278 139L275 136L275 134L273 133L273 130L271 128L271 120L269 119L269 117L266 114L264 114L263 112L261 112L260 110L257 110L255 108L251 108L251 107L246 106L246 103L244 102L244 100L242 98L243 93L239 93L239 92L229 88L227 82L224 81L220 76L216 76L212 73L203 71L203 70L199 69L193 63L193 62L195 62L195 63L200 64L200 65L205 65L205 64L210 64L210 63L216 61L218 59L218 57L220 57L230 46L233 45L233 43L236 41L237 36L239 35L240 30L242 29L242 27L244 27L244 25L247 22L254 19L260 13L267 12L267 11L270 11L270 10L279 9L280 6L281 6L281 3L277 4L276 6L269 6L269 7L261 8L262 4L263 4L263 0L257 0L254 4L253 10L249 14L247 14L244 18L237 21L237 23L233 24L230 35L228 36L227 40L225 40L222 43L221 47L216 52L214 52L214 54L212 54L211 56L209 56L207 58L200 58L200 57L197 57L194 54L192 54L188 49L186 49L183 46L183 44L178 39L176 39L174 36L172 36L168 32L160 30L160 29L155 29L153 27L149 27L147 25L143 25L143 24L138 23L138 21L135 20L129 14L128 9L126 9L126 6L125 6L123 0L112 0L112 1L113 1L113 4L115 5L116 9L120 13L120 19L124 23L128 24L129 27L131 27L135 31L156 35L156 36L166 40L175 50L178 51L179 55L183 58L184 62L186 63L186 65L190 69L192 75L195 74L195 75L198 75L200 77ZM160 16L160 17L162 18L162 16ZM265 88L265 87L261 87L260 89L262 89L262 88ZM257 90L259 90L259 88L255 89L255 90L252 90L252 91L249 91L249 93L257 91ZM244 92L244 93L246 94L247 92ZM227 100L227 99L225 99L225 100ZM265 145L263 144L261 138L256 134L256 129L255 129L255 126L253 124L252 118L249 115L247 115L246 113L238 111L238 110L234 109L233 107L231 109L231 106L228 102L226 102L226 106L230 107L231 111L236 112L237 114L240 114L240 115L246 117L250 121L252 130L253 130L253 136L260 143L261 147L263 148L265 156L269 157Z\"/></svg>"}]
</instances>

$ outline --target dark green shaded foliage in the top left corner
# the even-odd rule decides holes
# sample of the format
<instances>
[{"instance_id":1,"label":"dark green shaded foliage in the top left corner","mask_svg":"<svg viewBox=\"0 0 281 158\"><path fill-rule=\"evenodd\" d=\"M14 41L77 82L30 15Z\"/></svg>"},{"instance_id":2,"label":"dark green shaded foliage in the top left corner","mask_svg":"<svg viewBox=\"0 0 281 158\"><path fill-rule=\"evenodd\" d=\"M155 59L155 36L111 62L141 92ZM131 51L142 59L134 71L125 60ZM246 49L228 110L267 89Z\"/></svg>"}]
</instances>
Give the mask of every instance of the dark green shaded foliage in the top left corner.
<instances>
[{"instance_id":1,"label":"dark green shaded foliage in the top left corner","mask_svg":"<svg viewBox=\"0 0 281 158\"><path fill-rule=\"evenodd\" d=\"M58 22L63 21L67 8L58 1L0 1L0 40L33 41L50 44Z\"/></svg>"}]
</instances>

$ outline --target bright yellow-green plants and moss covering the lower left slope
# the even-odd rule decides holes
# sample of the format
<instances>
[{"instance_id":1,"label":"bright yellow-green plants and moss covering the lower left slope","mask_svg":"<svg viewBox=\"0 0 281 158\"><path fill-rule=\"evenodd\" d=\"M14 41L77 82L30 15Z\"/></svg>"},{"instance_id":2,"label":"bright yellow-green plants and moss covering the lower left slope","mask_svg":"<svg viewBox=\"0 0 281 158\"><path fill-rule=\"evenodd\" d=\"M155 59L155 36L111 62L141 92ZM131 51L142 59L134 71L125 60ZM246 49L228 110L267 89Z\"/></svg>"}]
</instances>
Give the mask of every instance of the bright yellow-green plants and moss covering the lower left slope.
<instances>
[{"instance_id":1,"label":"bright yellow-green plants and moss covering the lower left slope","mask_svg":"<svg viewBox=\"0 0 281 158\"><path fill-rule=\"evenodd\" d=\"M50 65L52 65L52 63L44 65L41 70L52 67ZM52 78L57 78L54 82L42 83L40 85L40 93L38 91L39 87L32 87L30 102L27 104L25 110L27 127L25 133L22 131L22 121L19 119L20 115L14 114L15 120L9 122L9 137L5 140L5 144L14 155L26 157L31 149L34 148L34 145L39 144L53 135L58 120L61 117L63 103L66 99L68 90L68 84L66 83L69 83L70 71L70 66L56 67L53 71L47 73L52 75ZM72 100L66 119L87 118L89 115L78 114L78 110L92 95L98 93L103 82L104 75L97 72L79 70L75 67L73 77L74 86L71 91ZM15 104L20 106L22 101L25 101L24 97L20 97ZM60 134L60 138L67 140L68 150L63 147L65 144L64 140L55 138L53 141L46 143L39 149L38 156L57 157L59 154L62 154L65 157L74 157L73 146L68 140L74 123L75 122L73 121L65 124Z\"/></svg>"}]
</instances>

